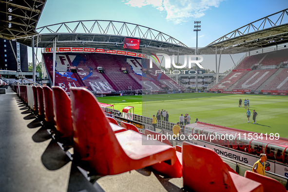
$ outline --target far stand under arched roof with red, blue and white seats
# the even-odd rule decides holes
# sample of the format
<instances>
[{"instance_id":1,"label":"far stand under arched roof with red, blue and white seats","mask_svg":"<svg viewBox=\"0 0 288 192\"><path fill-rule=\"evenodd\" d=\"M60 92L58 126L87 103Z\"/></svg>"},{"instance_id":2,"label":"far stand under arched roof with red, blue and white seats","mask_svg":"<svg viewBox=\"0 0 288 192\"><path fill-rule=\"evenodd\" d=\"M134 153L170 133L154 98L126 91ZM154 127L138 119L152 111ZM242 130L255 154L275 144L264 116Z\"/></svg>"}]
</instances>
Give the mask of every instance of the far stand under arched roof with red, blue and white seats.
<instances>
[{"instance_id":1,"label":"far stand under arched roof with red, blue and white seats","mask_svg":"<svg viewBox=\"0 0 288 192\"><path fill-rule=\"evenodd\" d=\"M160 69L154 63L153 68L147 68L150 60L146 58L101 53L66 53L56 56L55 83L66 92L70 87L87 87L90 91L100 93L141 89L163 91L165 87L170 90L183 89L165 74L156 74L156 70ZM43 53L43 58L52 79L53 56ZM72 72L70 67L76 67L76 71ZM97 67L102 67L103 71L100 73ZM122 69L128 73L123 73Z\"/></svg>"}]
</instances>

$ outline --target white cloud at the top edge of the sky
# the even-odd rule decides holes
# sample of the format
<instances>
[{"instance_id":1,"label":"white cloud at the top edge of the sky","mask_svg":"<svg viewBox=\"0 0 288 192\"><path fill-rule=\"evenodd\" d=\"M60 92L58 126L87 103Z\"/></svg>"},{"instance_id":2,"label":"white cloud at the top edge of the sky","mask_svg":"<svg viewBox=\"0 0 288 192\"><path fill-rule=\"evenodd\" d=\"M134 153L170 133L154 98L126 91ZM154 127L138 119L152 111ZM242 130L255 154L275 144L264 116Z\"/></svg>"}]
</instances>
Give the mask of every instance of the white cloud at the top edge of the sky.
<instances>
[{"instance_id":1,"label":"white cloud at the top edge of the sky","mask_svg":"<svg viewBox=\"0 0 288 192\"><path fill-rule=\"evenodd\" d=\"M219 7L223 0L127 0L132 7L152 5L159 11L166 11L166 19L174 23L201 18L211 7Z\"/></svg>"}]
</instances>

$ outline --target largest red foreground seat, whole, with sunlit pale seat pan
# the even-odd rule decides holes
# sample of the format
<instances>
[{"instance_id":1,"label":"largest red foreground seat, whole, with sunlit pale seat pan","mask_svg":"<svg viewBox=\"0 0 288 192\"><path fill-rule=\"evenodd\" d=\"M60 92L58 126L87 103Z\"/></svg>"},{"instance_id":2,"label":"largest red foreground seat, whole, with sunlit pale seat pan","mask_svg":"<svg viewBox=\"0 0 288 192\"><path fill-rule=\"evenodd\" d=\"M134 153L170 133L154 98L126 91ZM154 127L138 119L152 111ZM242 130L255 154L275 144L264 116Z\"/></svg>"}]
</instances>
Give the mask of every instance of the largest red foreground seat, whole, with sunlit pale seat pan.
<instances>
[{"instance_id":1,"label":"largest red foreground seat, whole, with sunlit pale seat pan","mask_svg":"<svg viewBox=\"0 0 288 192\"><path fill-rule=\"evenodd\" d=\"M159 141L145 145L146 136L132 130L114 134L96 97L87 89L72 87L70 94L74 155L84 162L85 169L112 175L162 161L176 162L175 150L169 145L159 145Z\"/></svg>"}]
</instances>

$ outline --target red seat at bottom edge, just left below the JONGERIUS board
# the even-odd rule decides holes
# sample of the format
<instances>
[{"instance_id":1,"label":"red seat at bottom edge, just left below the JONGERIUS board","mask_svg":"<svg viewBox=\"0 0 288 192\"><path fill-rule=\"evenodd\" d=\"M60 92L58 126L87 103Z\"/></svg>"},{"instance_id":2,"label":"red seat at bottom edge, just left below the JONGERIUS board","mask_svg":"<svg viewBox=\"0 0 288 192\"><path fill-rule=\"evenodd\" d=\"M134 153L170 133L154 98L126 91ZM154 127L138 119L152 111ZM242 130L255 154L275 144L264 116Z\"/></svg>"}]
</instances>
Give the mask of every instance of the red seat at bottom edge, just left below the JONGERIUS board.
<instances>
[{"instance_id":1,"label":"red seat at bottom edge, just left below the JONGERIUS board","mask_svg":"<svg viewBox=\"0 0 288 192\"><path fill-rule=\"evenodd\" d=\"M183 142L183 185L194 192L263 192L255 181L228 171L211 149Z\"/></svg>"}]
</instances>

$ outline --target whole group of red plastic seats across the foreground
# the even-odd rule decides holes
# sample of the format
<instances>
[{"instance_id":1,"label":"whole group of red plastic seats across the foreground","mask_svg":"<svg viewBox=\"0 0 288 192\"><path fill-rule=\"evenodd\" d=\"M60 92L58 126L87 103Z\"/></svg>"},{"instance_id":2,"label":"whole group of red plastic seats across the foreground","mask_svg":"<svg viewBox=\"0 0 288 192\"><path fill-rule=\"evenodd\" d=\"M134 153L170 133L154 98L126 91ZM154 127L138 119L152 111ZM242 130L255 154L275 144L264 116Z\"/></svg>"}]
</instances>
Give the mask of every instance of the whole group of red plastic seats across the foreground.
<instances>
[{"instance_id":1,"label":"whole group of red plastic seats across the foreground","mask_svg":"<svg viewBox=\"0 0 288 192\"><path fill-rule=\"evenodd\" d=\"M73 161L90 173L105 176L151 166L166 177L183 176L184 188L195 192L263 192L266 186L286 191L279 182L256 173L247 173L254 181L238 175L208 148L184 142L182 149L174 149L167 141L148 140L132 124L118 126L115 119L104 115L87 89L72 87L69 98L60 87L32 88L32 110L55 126L60 141L73 145ZM25 102L32 96L27 86L14 90ZM159 133L146 130L145 134Z\"/></svg>"}]
</instances>

